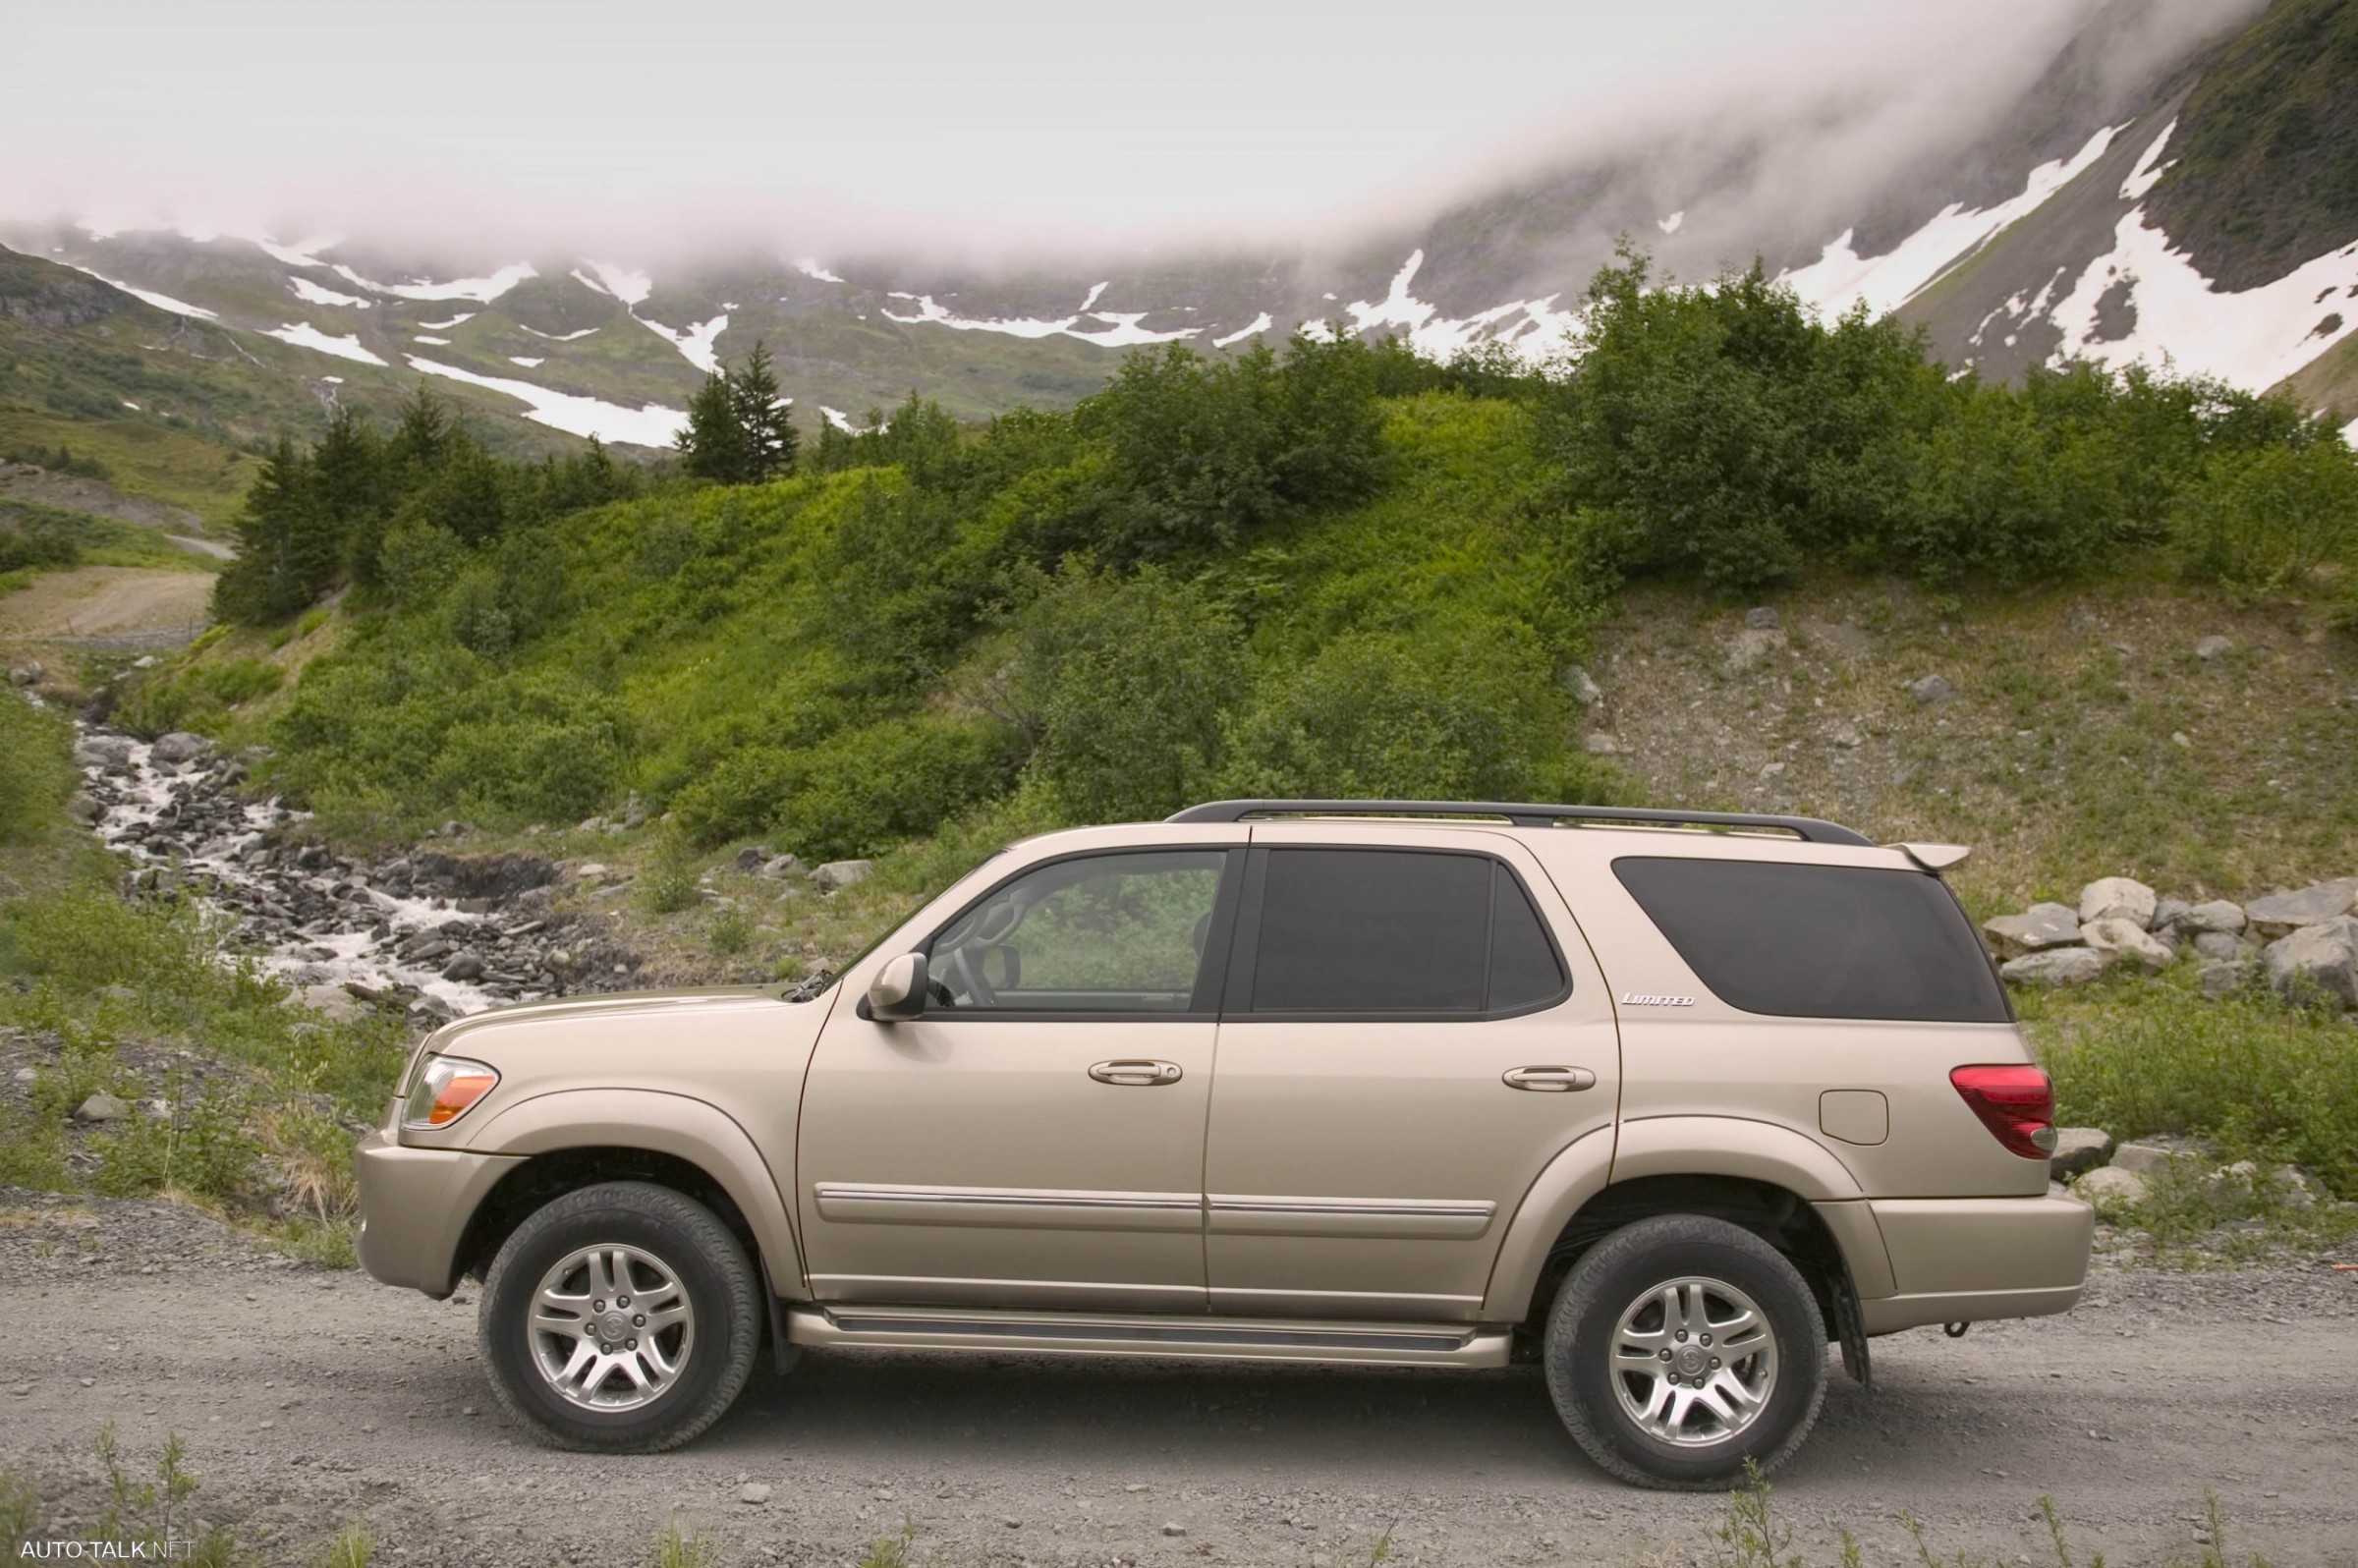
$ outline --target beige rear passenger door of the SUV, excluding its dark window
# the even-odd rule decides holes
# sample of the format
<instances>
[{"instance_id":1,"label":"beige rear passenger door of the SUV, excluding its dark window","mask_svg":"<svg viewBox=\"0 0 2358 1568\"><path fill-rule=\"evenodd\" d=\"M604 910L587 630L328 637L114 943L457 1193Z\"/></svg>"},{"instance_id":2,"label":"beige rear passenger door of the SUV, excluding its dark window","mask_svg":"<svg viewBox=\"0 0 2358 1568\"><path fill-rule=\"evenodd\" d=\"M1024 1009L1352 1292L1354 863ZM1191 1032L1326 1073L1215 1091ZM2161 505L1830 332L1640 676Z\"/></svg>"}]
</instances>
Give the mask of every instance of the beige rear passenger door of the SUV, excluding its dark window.
<instances>
[{"instance_id":1,"label":"beige rear passenger door of the SUV, excluding its dark window","mask_svg":"<svg viewBox=\"0 0 2358 1568\"><path fill-rule=\"evenodd\" d=\"M1254 828L1257 875L1247 875L1238 948L1257 941L1264 846L1353 839L1365 844L1365 828ZM1476 830L1387 825L1391 844L1478 851L1511 868L1554 936L1570 995L1516 1016L1254 1016L1238 993L1252 983L1240 953L1205 1144L1214 1313L1471 1320L1507 1219L1540 1170L1573 1139L1613 1125L1613 1004L1537 863L1514 839ZM1285 962L1313 962L1306 948L1271 948L1280 950ZM1295 974L1276 993L1320 988ZM1417 988L1403 981L1396 993ZM1582 1082L1582 1073L1514 1087L1507 1075L1519 1068L1589 1078L1580 1089L1544 1085Z\"/></svg>"}]
</instances>

